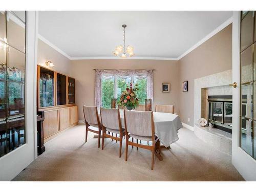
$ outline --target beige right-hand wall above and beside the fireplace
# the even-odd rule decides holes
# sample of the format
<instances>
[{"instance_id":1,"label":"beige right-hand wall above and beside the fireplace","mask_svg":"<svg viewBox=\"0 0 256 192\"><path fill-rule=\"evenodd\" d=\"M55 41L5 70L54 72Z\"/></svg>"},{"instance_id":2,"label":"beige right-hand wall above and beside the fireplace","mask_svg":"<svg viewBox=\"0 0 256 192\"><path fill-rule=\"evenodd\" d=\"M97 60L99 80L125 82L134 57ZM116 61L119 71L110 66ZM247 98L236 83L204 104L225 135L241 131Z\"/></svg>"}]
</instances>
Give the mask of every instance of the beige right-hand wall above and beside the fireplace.
<instances>
[{"instance_id":1,"label":"beige right-hand wall above and beside the fireplace","mask_svg":"<svg viewBox=\"0 0 256 192\"><path fill-rule=\"evenodd\" d=\"M179 67L179 115L182 122L194 126L194 79L232 69L232 24L180 59ZM188 92L182 92L185 80Z\"/></svg>"}]
</instances>

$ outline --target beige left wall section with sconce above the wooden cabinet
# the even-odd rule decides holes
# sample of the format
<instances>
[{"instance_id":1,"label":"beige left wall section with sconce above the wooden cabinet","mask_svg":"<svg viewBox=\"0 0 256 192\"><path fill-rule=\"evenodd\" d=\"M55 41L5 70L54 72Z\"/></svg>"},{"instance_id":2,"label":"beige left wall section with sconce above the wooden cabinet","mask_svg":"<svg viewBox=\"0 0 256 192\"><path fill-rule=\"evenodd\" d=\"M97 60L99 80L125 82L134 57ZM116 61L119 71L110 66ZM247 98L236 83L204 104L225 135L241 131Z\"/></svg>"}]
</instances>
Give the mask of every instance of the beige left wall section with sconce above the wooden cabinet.
<instances>
[{"instance_id":1,"label":"beige left wall section with sconce above the wooden cabinet","mask_svg":"<svg viewBox=\"0 0 256 192\"><path fill-rule=\"evenodd\" d=\"M61 53L47 45L45 42L38 39L37 47L37 63L41 66L45 66L45 62L50 60L53 62L54 67L51 69L66 75L70 75L70 63L71 61L63 56Z\"/></svg>"}]
</instances>

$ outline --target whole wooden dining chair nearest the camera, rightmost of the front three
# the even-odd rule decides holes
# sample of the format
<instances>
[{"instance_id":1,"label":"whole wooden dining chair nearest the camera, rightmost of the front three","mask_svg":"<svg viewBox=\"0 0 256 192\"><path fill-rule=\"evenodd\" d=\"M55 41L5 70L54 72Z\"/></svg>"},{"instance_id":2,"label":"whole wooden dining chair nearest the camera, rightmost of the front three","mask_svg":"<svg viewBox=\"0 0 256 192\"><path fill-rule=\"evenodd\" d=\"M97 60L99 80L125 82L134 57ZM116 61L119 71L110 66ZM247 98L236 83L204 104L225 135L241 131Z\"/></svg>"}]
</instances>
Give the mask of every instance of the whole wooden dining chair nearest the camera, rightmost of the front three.
<instances>
[{"instance_id":1,"label":"whole wooden dining chair nearest the camera, rightmost of the front three","mask_svg":"<svg viewBox=\"0 0 256 192\"><path fill-rule=\"evenodd\" d=\"M155 137L153 112L128 111L124 110L125 125L125 161L127 161L128 146L137 146L145 148L152 152L151 169L154 168L155 144L158 140ZM142 141L152 141L152 145L143 145L129 141L129 138L140 139Z\"/></svg>"}]
</instances>

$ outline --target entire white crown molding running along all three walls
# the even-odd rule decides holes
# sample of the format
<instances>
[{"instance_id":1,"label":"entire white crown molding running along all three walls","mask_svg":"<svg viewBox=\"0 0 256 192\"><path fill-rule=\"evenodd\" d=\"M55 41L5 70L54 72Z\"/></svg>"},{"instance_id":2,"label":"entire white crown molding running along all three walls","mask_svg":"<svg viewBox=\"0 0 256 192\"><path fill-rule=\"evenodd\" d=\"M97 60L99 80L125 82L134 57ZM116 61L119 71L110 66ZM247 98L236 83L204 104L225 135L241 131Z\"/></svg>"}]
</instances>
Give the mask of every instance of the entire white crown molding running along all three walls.
<instances>
[{"instance_id":1,"label":"entire white crown molding running along all three walls","mask_svg":"<svg viewBox=\"0 0 256 192\"><path fill-rule=\"evenodd\" d=\"M202 45L209 38L216 35L222 29L224 29L229 24L231 24L232 20L233 20L233 17L230 17L229 19L227 19L223 24L221 24L215 30L210 32L208 35L206 35L204 38L202 38L200 41L198 41L194 46L192 46L190 49L185 51L182 55L180 55L177 58L172 58L172 57L136 57L136 56L135 57L126 57L126 58L120 58L120 57L115 57L115 56L110 56L110 57L70 57L67 53L65 53L64 51L59 49L57 46L52 44L52 42L50 42L49 40L47 40L45 37L41 36L40 34L38 34L38 38L40 40L44 41L47 45L49 45L50 47L52 47L53 49L55 49L56 51L58 51L59 53L61 53L62 55L64 55L65 57L67 57L70 60L96 60L96 59L180 60L182 57L184 57L185 55L187 55L188 53L190 53L191 51L193 51L194 49L196 49L197 47Z\"/></svg>"}]
</instances>

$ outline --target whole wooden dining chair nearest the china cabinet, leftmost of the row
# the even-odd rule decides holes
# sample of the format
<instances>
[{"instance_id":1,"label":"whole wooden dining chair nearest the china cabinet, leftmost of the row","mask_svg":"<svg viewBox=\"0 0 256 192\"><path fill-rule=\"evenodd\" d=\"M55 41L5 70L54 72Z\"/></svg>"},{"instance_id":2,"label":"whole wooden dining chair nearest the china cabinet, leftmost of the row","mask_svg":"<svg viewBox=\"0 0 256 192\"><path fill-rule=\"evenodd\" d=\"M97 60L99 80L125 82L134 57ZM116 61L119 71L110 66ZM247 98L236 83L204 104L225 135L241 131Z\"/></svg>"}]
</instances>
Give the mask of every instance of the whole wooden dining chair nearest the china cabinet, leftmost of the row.
<instances>
[{"instance_id":1,"label":"whole wooden dining chair nearest the china cabinet, leftmost of the row","mask_svg":"<svg viewBox=\"0 0 256 192\"><path fill-rule=\"evenodd\" d=\"M101 122L98 115L97 106L83 105L84 122L86 123L86 142L88 131L98 134L98 148L100 146ZM92 128L94 127L94 129Z\"/></svg>"}]
</instances>

